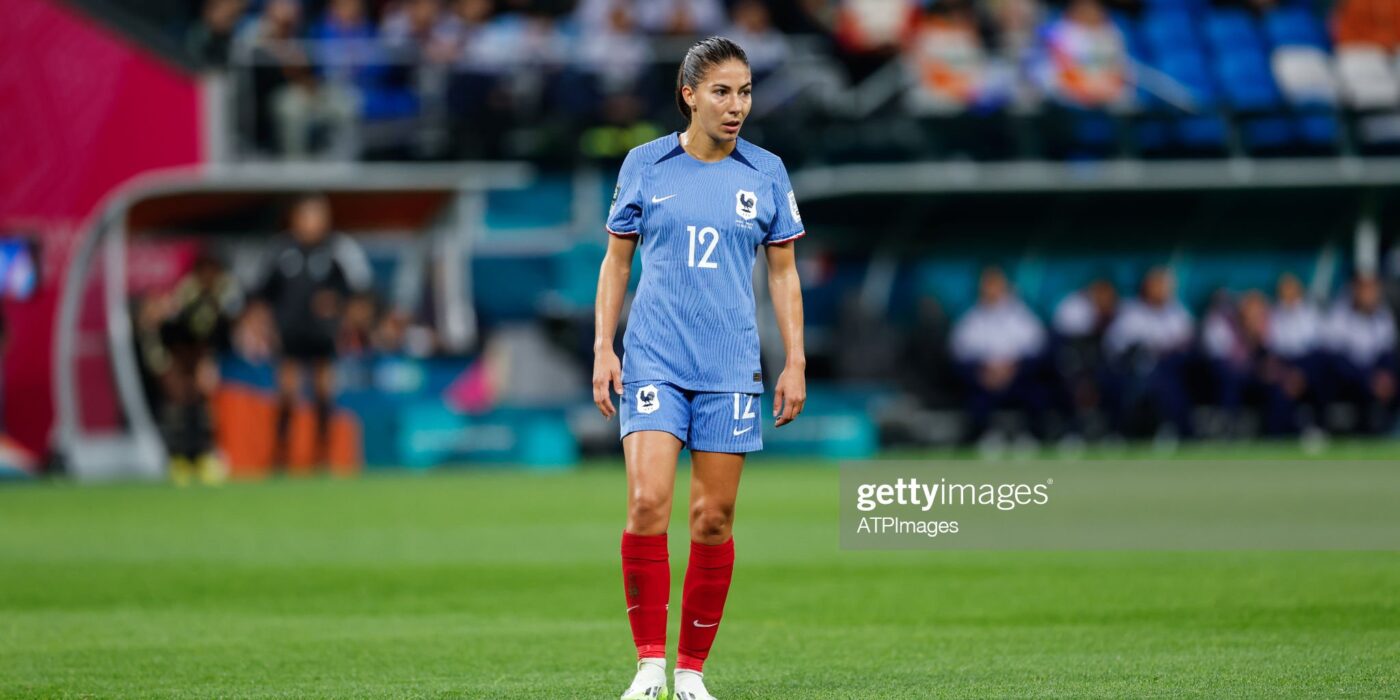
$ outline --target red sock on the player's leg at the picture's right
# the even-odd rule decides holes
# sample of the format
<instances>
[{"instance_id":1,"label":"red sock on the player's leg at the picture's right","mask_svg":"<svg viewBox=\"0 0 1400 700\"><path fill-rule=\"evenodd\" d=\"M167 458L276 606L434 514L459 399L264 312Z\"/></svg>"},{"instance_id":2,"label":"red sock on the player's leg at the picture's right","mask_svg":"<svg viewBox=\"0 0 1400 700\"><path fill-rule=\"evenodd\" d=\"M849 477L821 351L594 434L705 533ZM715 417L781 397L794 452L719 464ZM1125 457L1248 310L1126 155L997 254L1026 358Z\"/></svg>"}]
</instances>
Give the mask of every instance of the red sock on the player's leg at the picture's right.
<instances>
[{"instance_id":1,"label":"red sock on the player's leg at the picture's right","mask_svg":"<svg viewBox=\"0 0 1400 700\"><path fill-rule=\"evenodd\" d=\"M734 577L734 538L724 545L690 543L685 596L680 599L680 657L678 669L703 671L720 631L724 599Z\"/></svg>"}]
</instances>

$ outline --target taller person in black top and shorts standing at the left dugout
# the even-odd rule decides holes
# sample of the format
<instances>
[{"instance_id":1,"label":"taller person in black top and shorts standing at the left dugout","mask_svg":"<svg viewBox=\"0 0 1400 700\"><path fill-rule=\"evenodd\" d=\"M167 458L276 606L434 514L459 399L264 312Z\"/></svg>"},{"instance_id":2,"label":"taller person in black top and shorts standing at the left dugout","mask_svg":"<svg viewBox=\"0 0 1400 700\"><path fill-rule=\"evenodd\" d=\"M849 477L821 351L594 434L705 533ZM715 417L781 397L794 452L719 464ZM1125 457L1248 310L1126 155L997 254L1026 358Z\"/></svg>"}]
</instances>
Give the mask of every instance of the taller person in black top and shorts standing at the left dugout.
<instances>
[{"instance_id":1,"label":"taller person in black top and shorts standing at the left dugout","mask_svg":"<svg viewBox=\"0 0 1400 700\"><path fill-rule=\"evenodd\" d=\"M291 412L308 368L316 407L316 461L329 456L336 335L346 302L368 291L371 281L360 246L330 231L330 202L323 195L298 197L288 230L290 235L277 241L267 256L258 288L263 316L270 316L280 344L277 465L288 462Z\"/></svg>"}]
</instances>

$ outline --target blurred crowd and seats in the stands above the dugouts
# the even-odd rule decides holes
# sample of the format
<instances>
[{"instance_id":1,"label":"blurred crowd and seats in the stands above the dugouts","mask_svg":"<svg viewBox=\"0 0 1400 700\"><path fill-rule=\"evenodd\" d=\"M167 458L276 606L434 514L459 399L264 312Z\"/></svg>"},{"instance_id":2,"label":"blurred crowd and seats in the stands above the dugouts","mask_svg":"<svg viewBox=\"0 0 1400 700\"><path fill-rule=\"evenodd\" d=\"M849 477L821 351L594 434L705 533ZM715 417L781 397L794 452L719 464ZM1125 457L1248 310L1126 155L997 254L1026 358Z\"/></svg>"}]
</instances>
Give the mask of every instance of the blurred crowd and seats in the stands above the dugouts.
<instances>
[{"instance_id":1,"label":"blurred crowd and seats in the stands above the dugouts","mask_svg":"<svg viewBox=\"0 0 1400 700\"><path fill-rule=\"evenodd\" d=\"M263 155L619 157L673 123L708 34L748 50L790 161L1400 146L1396 0L127 4L230 71Z\"/></svg>"}]
</instances>

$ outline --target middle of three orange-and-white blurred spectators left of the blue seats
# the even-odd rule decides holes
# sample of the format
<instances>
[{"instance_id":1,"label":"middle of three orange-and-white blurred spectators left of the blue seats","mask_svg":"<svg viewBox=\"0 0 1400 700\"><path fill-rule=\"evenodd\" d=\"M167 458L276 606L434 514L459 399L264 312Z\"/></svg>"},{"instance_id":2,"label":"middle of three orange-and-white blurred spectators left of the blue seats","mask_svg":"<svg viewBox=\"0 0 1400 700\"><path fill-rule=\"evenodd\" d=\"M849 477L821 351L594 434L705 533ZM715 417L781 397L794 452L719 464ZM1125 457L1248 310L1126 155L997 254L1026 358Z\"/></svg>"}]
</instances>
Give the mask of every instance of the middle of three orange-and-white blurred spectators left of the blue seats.
<instances>
[{"instance_id":1,"label":"middle of three orange-and-white blurred spectators left of the blue seats","mask_svg":"<svg viewBox=\"0 0 1400 700\"><path fill-rule=\"evenodd\" d=\"M944 0L928 10L910 35L904 60L917 83L906 101L916 112L963 112L1009 97L1011 74L987 55L972 0Z\"/></svg>"}]
</instances>

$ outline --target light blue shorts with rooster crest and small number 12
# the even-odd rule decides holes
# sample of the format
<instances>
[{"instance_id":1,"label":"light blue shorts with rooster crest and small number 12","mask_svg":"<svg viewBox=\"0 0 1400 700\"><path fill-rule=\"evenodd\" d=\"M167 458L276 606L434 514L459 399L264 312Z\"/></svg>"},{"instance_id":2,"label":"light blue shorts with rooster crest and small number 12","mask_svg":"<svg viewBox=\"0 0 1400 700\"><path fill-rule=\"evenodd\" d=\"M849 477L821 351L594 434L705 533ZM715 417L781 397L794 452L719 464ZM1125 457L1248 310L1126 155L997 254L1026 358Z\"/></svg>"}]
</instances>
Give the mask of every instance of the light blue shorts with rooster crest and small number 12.
<instances>
[{"instance_id":1,"label":"light blue shorts with rooster crest and small number 12","mask_svg":"<svg viewBox=\"0 0 1400 700\"><path fill-rule=\"evenodd\" d=\"M757 393L693 392L666 382L630 382L622 391L622 437L661 430L701 452L763 449Z\"/></svg>"}]
</instances>

